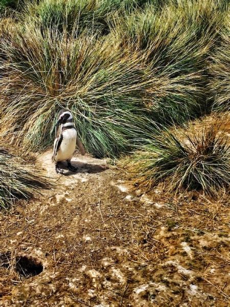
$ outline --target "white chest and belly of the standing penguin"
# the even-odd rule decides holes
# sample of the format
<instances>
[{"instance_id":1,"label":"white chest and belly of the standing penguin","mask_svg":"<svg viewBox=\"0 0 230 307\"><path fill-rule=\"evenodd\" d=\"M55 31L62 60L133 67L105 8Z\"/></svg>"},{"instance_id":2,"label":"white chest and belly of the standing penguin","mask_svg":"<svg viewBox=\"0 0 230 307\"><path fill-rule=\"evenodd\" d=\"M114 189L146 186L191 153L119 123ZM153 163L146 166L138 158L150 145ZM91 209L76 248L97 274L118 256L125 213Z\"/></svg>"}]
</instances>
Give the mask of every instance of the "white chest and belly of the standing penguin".
<instances>
[{"instance_id":1,"label":"white chest and belly of the standing penguin","mask_svg":"<svg viewBox=\"0 0 230 307\"><path fill-rule=\"evenodd\" d=\"M77 131L75 128L62 131L63 139L57 151L56 161L71 160L76 148Z\"/></svg>"}]
</instances>

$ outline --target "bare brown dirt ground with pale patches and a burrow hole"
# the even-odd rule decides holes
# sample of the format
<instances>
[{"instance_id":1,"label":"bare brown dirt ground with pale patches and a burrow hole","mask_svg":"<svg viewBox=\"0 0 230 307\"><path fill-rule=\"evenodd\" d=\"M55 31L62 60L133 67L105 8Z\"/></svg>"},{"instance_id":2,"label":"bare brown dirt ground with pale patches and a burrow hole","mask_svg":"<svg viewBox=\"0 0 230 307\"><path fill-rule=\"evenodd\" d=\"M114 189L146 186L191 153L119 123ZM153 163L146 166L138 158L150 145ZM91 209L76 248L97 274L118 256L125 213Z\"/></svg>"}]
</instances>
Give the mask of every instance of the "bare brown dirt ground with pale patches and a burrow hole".
<instances>
[{"instance_id":1,"label":"bare brown dirt ground with pale patches and a burrow hole","mask_svg":"<svg viewBox=\"0 0 230 307\"><path fill-rule=\"evenodd\" d=\"M229 207L198 193L132 192L76 156L54 188L1 215L1 306L227 306Z\"/></svg>"}]
</instances>

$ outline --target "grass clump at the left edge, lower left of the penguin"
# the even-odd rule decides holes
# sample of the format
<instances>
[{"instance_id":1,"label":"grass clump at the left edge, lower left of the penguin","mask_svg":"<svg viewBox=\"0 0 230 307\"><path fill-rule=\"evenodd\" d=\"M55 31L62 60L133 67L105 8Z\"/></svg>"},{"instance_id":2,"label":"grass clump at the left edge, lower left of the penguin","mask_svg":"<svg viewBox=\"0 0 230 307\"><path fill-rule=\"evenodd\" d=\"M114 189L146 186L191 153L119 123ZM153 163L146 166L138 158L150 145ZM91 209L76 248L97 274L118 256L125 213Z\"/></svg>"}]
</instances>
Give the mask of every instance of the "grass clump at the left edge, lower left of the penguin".
<instances>
[{"instance_id":1,"label":"grass clump at the left edge, lower left of the penguin","mask_svg":"<svg viewBox=\"0 0 230 307\"><path fill-rule=\"evenodd\" d=\"M37 189L45 187L48 183L33 165L0 147L0 208L29 199Z\"/></svg>"}]
</instances>

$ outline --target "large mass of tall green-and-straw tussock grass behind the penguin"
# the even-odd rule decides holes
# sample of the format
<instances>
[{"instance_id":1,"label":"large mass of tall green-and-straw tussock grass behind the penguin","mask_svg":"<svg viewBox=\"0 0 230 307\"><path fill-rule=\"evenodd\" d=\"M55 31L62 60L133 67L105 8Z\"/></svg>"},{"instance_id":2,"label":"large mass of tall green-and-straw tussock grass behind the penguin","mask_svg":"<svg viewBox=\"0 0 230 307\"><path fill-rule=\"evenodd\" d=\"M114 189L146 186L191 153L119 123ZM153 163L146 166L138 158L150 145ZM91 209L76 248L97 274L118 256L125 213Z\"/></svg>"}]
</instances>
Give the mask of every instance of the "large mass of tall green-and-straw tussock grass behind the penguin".
<instances>
[{"instance_id":1,"label":"large mass of tall green-and-straw tussock grass behind the penguin","mask_svg":"<svg viewBox=\"0 0 230 307\"><path fill-rule=\"evenodd\" d=\"M118 156L205 113L226 1L28 1L1 30L0 104L20 143L51 145L70 108L86 148Z\"/></svg>"}]
</instances>

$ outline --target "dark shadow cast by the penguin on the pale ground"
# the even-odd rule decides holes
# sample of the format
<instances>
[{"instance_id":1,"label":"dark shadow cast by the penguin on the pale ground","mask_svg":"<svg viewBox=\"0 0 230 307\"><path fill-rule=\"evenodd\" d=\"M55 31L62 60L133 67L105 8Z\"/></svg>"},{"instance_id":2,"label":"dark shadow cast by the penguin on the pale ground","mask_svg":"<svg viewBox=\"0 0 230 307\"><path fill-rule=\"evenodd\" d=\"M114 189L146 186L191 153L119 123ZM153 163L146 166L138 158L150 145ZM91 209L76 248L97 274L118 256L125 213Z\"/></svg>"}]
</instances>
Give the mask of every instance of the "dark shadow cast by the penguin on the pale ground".
<instances>
[{"instance_id":1,"label":"dark shadow cast by the penguin on the pale ground","mask_svg":"<svg viewBox=\"0 0 230 307\"><path fill-rule=\"evenodd\" d=\"M72 176L77 173L89 173L89 174L96 174L105 171L108 169L108 166L106 165L98 165L98 164L88 164L78 161L71 161L71 165L77 168L77 171L73 172L68 170L67 163L61 162L60 167L66 172L64 172L64 176Z\"/></svg>"}]
</instances>

